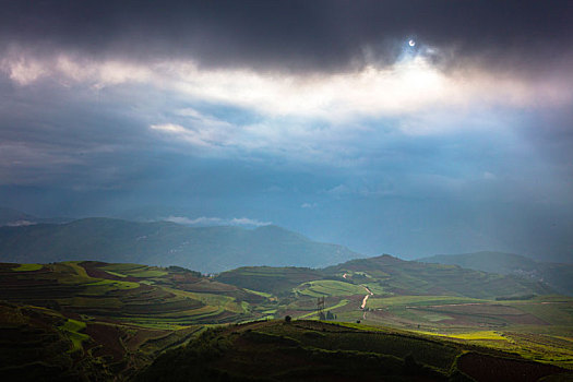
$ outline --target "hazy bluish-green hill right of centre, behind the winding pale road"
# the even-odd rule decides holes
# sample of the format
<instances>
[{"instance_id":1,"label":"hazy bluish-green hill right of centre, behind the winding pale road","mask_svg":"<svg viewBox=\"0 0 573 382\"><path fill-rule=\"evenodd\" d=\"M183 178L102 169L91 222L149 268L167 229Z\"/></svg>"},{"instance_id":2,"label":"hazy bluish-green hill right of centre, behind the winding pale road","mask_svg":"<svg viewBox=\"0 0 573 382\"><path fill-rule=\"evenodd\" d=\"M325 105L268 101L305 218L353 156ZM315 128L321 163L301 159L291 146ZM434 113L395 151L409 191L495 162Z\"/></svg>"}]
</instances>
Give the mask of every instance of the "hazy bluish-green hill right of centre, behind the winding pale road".
<instances>
[{"instance_id":1,"label":"hazy bluish-green hill right of centre, behind the winding pale road","mask_svg":"<svg viewBox=\"0 0 573 382\"><path fill-rule=\"evenodd\" d=\"M218 280L255 290L289 294L297 284L318 279L367 285L379 296L458 296L494 299L524 295L549 295L554 290L540 282L499 275L456 265L405 261L389 254L357 259L321 270L302 267L240 267L220 273Z\"/></svg>"}]
</instances>

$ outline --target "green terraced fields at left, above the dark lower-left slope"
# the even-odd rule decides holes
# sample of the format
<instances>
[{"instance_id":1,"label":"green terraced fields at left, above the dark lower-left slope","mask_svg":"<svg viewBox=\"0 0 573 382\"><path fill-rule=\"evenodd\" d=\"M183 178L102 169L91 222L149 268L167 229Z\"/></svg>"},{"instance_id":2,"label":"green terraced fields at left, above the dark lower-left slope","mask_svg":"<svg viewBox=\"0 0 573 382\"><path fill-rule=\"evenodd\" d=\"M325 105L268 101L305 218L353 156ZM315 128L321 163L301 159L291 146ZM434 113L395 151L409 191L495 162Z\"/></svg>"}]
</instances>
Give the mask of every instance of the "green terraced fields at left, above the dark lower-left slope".
<instances>
[{"instance_id":1,"label":"green terraced fields at left, above the dark lower-left slope","mask_svg":"<svg viewBox=\"0 0 573 382\"><path fill-rule=\"evenodd\" d=\"M241 302L263 299L193 272L136 264L65 262L26 271L1 264L0 277L7 301L154 327L255 318Z\"/></svg>"}]
</instances>

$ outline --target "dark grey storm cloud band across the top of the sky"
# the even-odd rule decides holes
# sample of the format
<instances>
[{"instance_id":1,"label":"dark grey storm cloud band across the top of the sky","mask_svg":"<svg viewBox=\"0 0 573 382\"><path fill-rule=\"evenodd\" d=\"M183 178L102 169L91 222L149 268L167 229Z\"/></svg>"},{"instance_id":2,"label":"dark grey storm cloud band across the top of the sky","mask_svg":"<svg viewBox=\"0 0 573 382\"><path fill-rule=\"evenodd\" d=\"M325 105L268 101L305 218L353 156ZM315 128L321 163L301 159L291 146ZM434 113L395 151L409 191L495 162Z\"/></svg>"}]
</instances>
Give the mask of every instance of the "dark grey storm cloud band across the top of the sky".
<instances>
[{"instance_id":1,"label":"dark grey storm cloud band across the top of the sky","mask_svg":"<svg viewBox=\"0 0 573 382\"><path fill-rule=\"evenodd\" d=\"M4 48L192 58L210 67L259 70L348 69L363 63L365 49L370 59L391 63L409 37L447 49L465 64L538 70L568 59L573 40L571 1L14 0L1 5Z\"/></svg>"}]
</instances>

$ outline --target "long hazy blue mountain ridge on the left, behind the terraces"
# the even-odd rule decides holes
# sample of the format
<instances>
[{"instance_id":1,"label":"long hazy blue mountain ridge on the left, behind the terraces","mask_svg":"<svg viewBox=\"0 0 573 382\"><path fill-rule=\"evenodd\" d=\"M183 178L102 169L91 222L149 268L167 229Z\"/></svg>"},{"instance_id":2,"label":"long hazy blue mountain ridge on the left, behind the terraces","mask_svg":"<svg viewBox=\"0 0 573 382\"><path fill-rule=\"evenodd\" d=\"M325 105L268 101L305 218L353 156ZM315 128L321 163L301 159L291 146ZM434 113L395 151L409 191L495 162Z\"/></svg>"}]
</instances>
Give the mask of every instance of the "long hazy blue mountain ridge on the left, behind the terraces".
<instances>
[{"instance_id":1,"label":"long hazy blue mountain ridge on the left, behind the terraces","mask_svg":"<svg viewBox=\"0 0 573 382\"><path fill-rule=\"evenodd\" d=\"M214 273L243 265L325 266L357 258L276 226L187 227L168 222L86 218L68 224L0 227L0 261L97 260L178 265Z\"/></svg>"}]
</instances>

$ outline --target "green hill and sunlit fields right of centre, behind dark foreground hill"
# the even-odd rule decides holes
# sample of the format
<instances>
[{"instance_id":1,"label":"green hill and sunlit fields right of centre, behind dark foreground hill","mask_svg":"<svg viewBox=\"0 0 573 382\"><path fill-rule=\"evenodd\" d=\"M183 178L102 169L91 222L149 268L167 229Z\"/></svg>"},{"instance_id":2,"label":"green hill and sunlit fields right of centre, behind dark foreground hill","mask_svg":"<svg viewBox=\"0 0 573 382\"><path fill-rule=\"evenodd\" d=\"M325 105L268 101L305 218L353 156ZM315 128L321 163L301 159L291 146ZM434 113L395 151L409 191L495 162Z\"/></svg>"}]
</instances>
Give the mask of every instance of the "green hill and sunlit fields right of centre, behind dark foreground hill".
<instances>
[{"instance_id":1,"label":"green hill and sunlit fields right of centre, behind dark foreground hill","mask_svg":"<svg viewBox=\"0 0 573 382\"><path fill-rule=\"evenodd\" d=\"M496 300L501 295L551 291L527 279L387 255L315 271L243 267L219 277L229 284L273 290L279 296L274 317L317 318L317 298L325 297L325 311L337 320L451 335L573 367L571 343L563 339L573 337L573 300L559 296ZM373 296L362 310L365 287Z\"/></svg>"}]
</instances>

